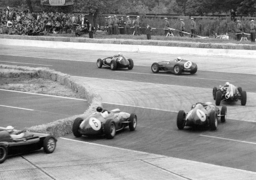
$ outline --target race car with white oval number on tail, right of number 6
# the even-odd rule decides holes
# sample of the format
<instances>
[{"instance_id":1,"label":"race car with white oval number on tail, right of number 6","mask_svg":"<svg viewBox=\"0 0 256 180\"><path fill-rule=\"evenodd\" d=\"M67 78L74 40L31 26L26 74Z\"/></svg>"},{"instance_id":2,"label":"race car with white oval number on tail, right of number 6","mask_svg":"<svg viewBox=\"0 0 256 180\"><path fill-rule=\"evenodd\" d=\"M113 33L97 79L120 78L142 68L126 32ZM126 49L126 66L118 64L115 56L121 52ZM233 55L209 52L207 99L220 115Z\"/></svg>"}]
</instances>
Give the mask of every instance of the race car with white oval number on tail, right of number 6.
<instances>
[{"instance_id":1,"label":"race car with white oval number on tail, right of number 6","mask_svg":"<svg viewBox=\"0 0 256 180\"><path fill-rule=\"evenodd\" d=\"M218 126L218 119L221 122L226 121L227 107L222 106L221 110L211 102L192 105L191 110L185 113L184 110L180 110L177 116L177 127L183 129L185 126L197 127L206 126L211 130L216 130Z\"/></svg>"}]
</instances>

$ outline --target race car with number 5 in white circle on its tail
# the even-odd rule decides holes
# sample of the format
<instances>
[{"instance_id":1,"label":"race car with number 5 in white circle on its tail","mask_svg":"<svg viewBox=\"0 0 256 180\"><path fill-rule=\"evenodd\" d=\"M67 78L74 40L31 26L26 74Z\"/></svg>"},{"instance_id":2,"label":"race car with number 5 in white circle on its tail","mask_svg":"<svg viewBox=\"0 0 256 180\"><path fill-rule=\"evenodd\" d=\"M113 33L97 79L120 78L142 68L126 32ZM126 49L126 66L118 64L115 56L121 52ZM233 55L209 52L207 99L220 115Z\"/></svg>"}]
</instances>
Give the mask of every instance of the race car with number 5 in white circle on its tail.
<instances>
[{"instance_id":1,"label":"race car with number 5 in white circle on its tail","mask_svg":"<svg viewBox=\"0 0 256 180\"><path fill-rule=\"evenodd\" d=\"M197 64L186 59L181 59L178 57L174 60L164 60L160 62L154 62L151 65L151 70L153 73L158 73L159 71L172 72L175 75L181 75L181 73L191 73L195 74L197 72Z\"/></svg>"}]
</instances>

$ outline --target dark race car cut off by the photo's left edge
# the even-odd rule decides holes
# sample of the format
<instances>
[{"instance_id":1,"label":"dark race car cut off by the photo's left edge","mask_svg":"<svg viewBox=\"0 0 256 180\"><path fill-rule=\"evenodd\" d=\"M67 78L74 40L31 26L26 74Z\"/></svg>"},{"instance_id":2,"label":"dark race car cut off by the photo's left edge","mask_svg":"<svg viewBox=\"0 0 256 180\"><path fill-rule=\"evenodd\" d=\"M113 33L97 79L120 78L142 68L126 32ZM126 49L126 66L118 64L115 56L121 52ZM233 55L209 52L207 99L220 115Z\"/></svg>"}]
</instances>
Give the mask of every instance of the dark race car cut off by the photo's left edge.
<instances>
[{"instance_id":1,"label":"dark race car cut off by the photo's left edge","mask_svg":"<svg viewBox=\"0 0 256 180\"><path fill-rule=\"evenodd\" d=\"M56 148L56 138L44 133L29 132L29 136L12 139L10 134L0 131L0 164L4 163L8 155L27 153L42 147L46 153L52 153Z\"/></svg>"}]
</instances>

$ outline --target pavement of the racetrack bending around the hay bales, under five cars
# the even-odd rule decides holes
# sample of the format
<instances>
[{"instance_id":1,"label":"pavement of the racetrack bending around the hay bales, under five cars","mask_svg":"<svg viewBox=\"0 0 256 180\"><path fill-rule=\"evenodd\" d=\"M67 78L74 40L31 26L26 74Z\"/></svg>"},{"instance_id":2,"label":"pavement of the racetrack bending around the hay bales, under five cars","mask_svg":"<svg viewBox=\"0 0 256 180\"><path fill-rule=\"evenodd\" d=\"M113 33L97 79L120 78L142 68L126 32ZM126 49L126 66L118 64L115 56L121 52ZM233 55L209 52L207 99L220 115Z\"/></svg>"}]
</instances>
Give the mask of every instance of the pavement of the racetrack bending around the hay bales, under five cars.
<instances>
[{"instance_id":1,"label":"pavement of the racetrack bending around the hay bales, under five cars","mask_svg":"<svg viewBox=\"0 0 256 180\"><path fill-rule=\"evenodd\" d=\"M113 72L109 68L98 69L96 60L114 52L79 50L60 54L60 50L31 48L33 51L25 53L23 48L19 48L16 56L8 53L8 48L11 50L13 47L1 49L0 54L4 55L0 55L0 63L48 67L76 76L77 81L100 94L105 102L104 108L111 110L118 107L121 111L136 113L138 117L134 132L125 128L113 140L106 140L105 137L74 138L73 134L65 138L256 172L256 124L253 114L256 63L252 59L184 55L182 58L195 61L199 70L195 75L175 76L164 72L153 74L150 66L153 62L174 59L177 55L127 52L127 57L134 60L134 69ZM224 65L220 68L220 64ZM247 69L246 64L250 64ZM222 72L216 72L220 69L223 69ZM224 103L228 117L226 123L219 123L217 131L188 127L178 130L177 111L183 109L187 113L191 104L198 101L214 103L212 87L223 85L226 81L247 91L246 106L241 106L240 102Z\"/></svg>"}]
</instances>

